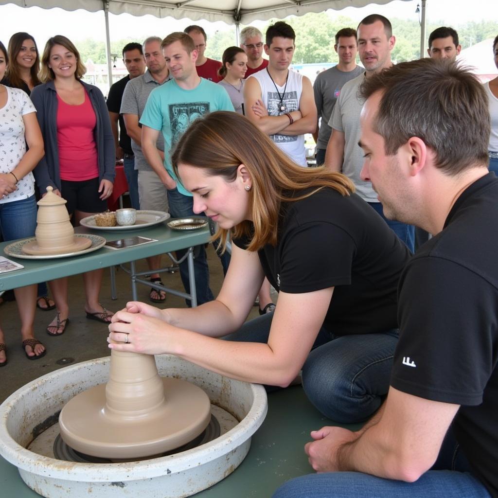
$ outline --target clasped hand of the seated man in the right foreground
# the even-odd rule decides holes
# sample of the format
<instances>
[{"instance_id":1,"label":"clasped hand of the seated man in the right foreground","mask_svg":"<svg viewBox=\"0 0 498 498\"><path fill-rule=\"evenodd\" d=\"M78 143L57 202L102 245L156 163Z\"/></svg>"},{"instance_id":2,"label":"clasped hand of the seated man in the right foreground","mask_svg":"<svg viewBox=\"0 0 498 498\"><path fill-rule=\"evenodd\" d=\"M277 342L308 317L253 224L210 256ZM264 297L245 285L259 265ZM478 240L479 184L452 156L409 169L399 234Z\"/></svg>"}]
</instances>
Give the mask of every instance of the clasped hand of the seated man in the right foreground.
<instances>
[{"instance_id":1,"label":"clasped hand of the seated man in the right foreground","mask_svg":"<svg viewBox=\"0 0 498 498\"><path fill-rule=\"evenodd\" d=\"M343 444L355 441L358 434L342 427L325 426L311 431L311 437L314 441L304 446L311 467L317 472L337 472L339 449Z\"/></svg>"}]
</instances>

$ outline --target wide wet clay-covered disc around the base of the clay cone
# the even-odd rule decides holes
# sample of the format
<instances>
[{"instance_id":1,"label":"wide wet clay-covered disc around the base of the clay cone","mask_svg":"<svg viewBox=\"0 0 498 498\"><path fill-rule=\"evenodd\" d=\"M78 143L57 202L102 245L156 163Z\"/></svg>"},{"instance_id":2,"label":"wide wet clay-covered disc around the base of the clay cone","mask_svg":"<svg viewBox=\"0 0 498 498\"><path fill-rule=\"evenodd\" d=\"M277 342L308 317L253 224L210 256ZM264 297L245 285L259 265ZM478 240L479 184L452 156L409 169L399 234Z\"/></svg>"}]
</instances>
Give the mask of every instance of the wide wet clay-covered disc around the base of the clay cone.
<instances>
[{"instance_id":1,"label":"wide wet clay-covered disc around the base of the clay cone","mask_svg":"<svg viewBox=\"0 0 498 498\"><path fill-rule=\"evenodd\" d=\"M62 439L81 453L104 458L147 457L191 441L209 424L209 397L186 380L161 380L166 400L139 417L109 413L106 384L78 394L60 413Z\"/></svg>"}]
</instances>

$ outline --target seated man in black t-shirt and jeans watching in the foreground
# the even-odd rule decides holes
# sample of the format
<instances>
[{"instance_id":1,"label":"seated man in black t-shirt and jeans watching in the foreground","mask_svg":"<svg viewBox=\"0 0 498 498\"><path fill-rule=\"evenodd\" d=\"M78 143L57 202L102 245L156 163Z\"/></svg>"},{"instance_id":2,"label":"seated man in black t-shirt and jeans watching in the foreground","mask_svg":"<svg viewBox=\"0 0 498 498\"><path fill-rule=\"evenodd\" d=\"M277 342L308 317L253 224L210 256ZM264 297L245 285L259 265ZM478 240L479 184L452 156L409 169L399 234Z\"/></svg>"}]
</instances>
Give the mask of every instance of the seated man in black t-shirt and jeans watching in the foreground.
<instances>
[{"instance_id":1,"label":"seated man in black t-shirt and jeans watching in the foreground","mask_svg":"<svg viewBox=\"0 0 498 498\"><path fill-rule=\"evenodd\" d=\"M323 474L275 497L498 497L498 179L484 88L453 62L393 66L362 87L362 176L387 218L434 237L398 288L387 399L305 451Z\"/></svg>"}]
</instances>

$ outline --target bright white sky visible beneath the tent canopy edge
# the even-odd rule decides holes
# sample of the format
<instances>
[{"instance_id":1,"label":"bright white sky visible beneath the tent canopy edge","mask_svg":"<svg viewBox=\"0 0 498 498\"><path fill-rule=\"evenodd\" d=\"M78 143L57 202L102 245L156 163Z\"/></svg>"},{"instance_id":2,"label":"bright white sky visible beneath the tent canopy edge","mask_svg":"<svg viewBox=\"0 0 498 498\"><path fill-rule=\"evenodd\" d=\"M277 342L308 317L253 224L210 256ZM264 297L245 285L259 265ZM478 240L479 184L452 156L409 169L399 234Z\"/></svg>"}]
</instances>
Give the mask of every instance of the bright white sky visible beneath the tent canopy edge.
<instances>
[{"instance_id":1,"label":"bright white sky visible beneath the tent canopy edge","mask_svg":"<svg viewBox=\"0 0 498 498\"><path fill-rule=\"evenodd\" d=\"M472 0L472 8L469 8L469 0L427 0L427 22L441 21L446 25L458 25L467 21L495 20L498 33L498 8L490 9L490 2L493 1L496 0ZM331 15L346 15L358 21L374 12L386 17L417 19L418 14L415 13L415 9L419 3L421 0L395 0L387 5L370 4L363 8L347 7L329 12ZM0 40L5 45L10 36L17 31L30 33L41 47L50 36L55 34L63 34L72 41L89 37L104 41L106 36L102 11L67 12L60 8L49 10L39 7L21 8L6 4L0 5L0 19L2 20ZM129 14L109 14L111 40L119 40L128 36L134 36L138 40L150 35L166 36L169 32L181 31L193 23L190 19L176 20L171 17L158 19L151 15L132 17ZM266 21L256 21L251 24L260 27L265 23ZM195 21L195 24L201 24L208 35L216 30L230 29L222 21L215 23Z\"/></svg>"}]
</instances>

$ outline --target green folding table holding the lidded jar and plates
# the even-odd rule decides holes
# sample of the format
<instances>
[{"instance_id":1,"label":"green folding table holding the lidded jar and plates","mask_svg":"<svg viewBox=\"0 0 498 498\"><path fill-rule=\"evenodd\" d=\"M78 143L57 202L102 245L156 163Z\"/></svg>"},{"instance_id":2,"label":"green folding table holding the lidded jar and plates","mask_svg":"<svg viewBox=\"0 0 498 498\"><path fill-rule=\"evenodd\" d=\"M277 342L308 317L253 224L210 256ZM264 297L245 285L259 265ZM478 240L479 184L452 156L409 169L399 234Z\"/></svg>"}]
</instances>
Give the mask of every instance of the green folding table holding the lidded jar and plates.
<instances>
[{"instance_id":1,"label":"green folding table holding the lidded jar and plates","mask_svg":"<svg viewBox=\"0 0 498 498\"><path fill-rule=\"evenodd\" d=\"M189 265L191 294L188 295L167 288L164 288L164 290L173 292L182 297L190 298L192 300L192 306L197 304L195 295L195 276L193 271L193 247L205 244L209 241L209 228L182 232L171 230L165 223L161 223L153 227L139 230L104 231L78 227L75 232L77 234L91 233L93 235L100 235L108 241L123 239L125 237L142 236L150 239L157 239L157 242L117 250L103 247L80 256L54 259L21 259L8 256L4 254L3 248L8 244L11 244L12 241L4 242L0 244L0 254L21 263L24 268L1 273L0 291L129 262L131 265L132 298L136 300L136 282L141 281L141 279L139 278L140 274L135 271L135 260L163 254L165 252L173 252L178 249L188 249L186 258Z\"/></svg>"}]
</instances>

